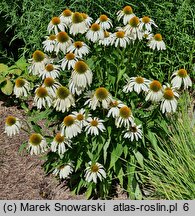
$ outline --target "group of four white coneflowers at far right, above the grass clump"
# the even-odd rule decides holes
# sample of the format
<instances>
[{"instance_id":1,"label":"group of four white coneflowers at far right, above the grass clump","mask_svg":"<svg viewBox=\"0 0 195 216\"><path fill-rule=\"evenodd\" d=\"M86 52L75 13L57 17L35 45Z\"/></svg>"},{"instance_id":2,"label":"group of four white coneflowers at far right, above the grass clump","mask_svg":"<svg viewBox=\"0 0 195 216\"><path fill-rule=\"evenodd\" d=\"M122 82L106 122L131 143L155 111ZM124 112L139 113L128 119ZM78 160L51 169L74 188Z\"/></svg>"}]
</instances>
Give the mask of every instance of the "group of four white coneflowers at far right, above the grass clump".
<instances>
[{"instance_id":1,"label":"group of four white coneflowers at far right, above the grass clump","mask_svg":"<svg viewBox=\"0 0 195 216\"><path fill-rule=\"evenodd\" d=\"M188 89L192 86L192 81L185 69L179 69L172 74L171 84L161 85L158 80L147 80L141 76L131 77L123 87L125 93L144 92L146 101L161 102L162 113L175 112L177 109L178 90L182 87ZM172 86L171 86L172 85Z\"/></svg>"}]
</instances>

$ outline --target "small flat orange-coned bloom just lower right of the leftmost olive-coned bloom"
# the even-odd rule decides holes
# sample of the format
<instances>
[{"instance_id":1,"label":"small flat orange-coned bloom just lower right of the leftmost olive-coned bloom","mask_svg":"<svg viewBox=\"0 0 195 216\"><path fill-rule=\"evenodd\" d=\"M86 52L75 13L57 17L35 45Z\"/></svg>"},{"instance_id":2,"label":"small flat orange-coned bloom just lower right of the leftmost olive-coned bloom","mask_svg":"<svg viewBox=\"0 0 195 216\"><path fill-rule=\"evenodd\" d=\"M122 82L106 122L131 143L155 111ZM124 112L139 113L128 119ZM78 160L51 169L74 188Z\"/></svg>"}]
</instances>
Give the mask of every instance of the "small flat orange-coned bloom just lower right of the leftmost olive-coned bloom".
<instances>
[{"instance_id":1,"label":"small flat orange-coned bloom just lower right of the leftmost olive-coned bloom","mask_svg":"<svg viewBox=\"0 0 195 216\"><path fill-rule=\"evenodd\" d=\"M40 77L45 79L47 77L52 77L53 79L60 76L60 65L47 64L45 65L44 70L40 72Z\"/></svg>"}]
</instances>

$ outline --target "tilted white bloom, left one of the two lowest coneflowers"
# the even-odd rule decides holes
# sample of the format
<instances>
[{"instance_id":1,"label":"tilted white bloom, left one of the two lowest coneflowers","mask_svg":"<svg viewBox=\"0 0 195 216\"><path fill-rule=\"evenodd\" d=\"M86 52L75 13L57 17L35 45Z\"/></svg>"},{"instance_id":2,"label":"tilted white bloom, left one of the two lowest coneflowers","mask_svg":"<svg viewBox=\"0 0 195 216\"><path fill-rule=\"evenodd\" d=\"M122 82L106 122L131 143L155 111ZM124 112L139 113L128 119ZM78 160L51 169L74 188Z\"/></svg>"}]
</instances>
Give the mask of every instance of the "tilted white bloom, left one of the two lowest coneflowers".
<instances>
[{"instance_id":1,"label":"tilted white bloom, left one of the two lowest coneflowers","mask_svg":"<svg viewBox=\"0 0 195 216\"><path fill-rule=\"evenodd\" d=\"M71 163L61 165L58 168L55 168L53 174L57 176L59 174L60 179L67 178L73 172L73 165Z\"/></svg>"}]
</instances>

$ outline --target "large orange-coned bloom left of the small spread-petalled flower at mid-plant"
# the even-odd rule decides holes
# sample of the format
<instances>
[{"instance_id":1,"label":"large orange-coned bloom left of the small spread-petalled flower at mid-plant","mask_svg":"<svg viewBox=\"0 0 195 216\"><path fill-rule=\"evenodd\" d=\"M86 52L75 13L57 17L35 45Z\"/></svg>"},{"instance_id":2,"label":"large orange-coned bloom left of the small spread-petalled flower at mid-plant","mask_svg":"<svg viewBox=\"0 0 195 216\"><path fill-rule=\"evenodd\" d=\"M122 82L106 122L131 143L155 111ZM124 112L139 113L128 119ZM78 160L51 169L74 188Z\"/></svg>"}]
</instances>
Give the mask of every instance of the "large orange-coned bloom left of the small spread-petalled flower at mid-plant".
<instances>
[{"instance_id":1,"label":"large orange-coned bloom left of the small spread-petalled flower at mid-plant","mask_svg":"<svg viewBox=\"0 0 195 216\"><path fill-rule=\"evenodd\" d=\"M75 119L74 116L68 115L64 118L62 122L62 135L65 135L67 138L73 138L81 133L81 125L79 124L78 120Z\"/></svg>"}]
</instances>

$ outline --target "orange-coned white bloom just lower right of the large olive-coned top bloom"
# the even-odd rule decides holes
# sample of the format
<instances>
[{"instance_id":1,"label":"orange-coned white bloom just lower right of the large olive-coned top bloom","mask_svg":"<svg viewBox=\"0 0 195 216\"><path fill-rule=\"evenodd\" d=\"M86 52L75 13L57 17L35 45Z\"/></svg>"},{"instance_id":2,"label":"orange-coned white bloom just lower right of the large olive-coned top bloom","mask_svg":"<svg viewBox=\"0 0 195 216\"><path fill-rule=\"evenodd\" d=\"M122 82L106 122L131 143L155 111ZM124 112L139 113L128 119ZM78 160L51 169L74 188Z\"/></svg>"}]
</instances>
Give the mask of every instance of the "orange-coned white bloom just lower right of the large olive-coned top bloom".
<instances>
[{"instance_id":1,"label":"orange-coned white bloom just lower right of the large olive-coned top bloom","mask_svg":"<svg viewBox=\"0 0 195 216\"><path fill-rule=\"evenodd\" d=\"M104 30L99 24L93 23L86 33L86 38L95 43L104 38Z\"/></svg>"}]
</instances>

